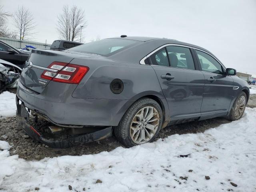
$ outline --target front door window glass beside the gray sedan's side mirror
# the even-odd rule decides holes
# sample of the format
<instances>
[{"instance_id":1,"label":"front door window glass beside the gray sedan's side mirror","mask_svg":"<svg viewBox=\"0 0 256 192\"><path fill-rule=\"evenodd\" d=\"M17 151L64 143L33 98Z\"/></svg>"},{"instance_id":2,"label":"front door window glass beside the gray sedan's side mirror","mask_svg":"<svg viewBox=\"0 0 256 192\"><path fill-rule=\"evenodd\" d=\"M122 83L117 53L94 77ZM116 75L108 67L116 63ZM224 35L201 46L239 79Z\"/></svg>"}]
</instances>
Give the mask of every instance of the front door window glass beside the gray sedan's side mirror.
<instances>
[{"instance_id":1,"label":"front door window glass beside the gray sedan's side mirror","mask_svg":"<svg viewBox=\"0 0 256 192\"><path fill-rule=\"evenodd\" d=\"M199 58L202 71L223 74L221 64L217 62L212 56L198 50L196 50L196 54Z\"/></svg>"}]
</instances>

